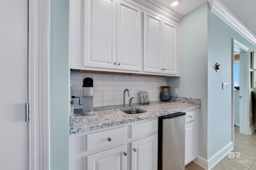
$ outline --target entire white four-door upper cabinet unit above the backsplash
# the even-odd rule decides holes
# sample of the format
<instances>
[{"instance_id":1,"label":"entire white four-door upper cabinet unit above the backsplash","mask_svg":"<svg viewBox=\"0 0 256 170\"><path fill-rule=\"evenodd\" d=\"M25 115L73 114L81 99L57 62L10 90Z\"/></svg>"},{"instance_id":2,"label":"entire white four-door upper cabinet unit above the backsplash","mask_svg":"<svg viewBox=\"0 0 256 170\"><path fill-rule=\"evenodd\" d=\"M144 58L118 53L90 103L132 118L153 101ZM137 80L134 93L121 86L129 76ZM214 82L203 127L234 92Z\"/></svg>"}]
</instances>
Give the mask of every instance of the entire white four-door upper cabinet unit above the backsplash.
<instances>
[{"instance_id":1,"label":"entire white four-door upper cabinet unit above the backsplash","mask_svg":"<svg viewBox=\"0 0 256 170\"><path fill-rule=\"evenodd\" d=\"M70 68L179 76L179 21L134 0L70 0Z\"/></svg>"}]
</instances>

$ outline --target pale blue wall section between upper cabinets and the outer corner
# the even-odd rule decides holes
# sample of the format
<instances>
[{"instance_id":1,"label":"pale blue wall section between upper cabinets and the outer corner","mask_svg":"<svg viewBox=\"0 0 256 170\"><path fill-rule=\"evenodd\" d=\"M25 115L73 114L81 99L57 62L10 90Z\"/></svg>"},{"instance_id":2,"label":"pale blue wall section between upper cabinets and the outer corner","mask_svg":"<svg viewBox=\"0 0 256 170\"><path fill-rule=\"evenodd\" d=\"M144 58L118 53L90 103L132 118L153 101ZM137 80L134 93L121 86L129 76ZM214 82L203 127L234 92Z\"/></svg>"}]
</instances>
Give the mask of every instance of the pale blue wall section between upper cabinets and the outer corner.
<instances>
[{"instance_id":1,"label":"pale blue wall section between upper cabinets and the outer corner","mask_svg":"<svg viewBox=\"0 0 256 170\"><path fill-rule=\"evenodd\" d=\"M180 77L167 78L178 96L200 98L199 155L207 158L207 3L184 16L180 23Z\"/></svg>"}]
</instances>

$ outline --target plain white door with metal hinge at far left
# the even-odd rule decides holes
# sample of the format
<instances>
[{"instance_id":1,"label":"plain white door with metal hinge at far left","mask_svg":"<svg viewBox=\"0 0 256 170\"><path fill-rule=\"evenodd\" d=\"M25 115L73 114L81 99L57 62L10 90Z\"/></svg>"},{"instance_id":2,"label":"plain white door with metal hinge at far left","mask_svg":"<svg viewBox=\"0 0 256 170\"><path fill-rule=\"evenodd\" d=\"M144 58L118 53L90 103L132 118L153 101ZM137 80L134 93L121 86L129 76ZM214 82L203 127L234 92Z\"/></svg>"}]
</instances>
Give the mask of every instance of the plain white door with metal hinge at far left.
<instances>
[{"instance_id":1,"label":"plain white door with metal hinge at far left","mask_svg":"<svg viewBox=\"0 0 256 170\"><path fill-rule=\"evenodd\" d=\"M0 170L28 169L28 0L0 0Z\"/></svg>"}]
</instances>

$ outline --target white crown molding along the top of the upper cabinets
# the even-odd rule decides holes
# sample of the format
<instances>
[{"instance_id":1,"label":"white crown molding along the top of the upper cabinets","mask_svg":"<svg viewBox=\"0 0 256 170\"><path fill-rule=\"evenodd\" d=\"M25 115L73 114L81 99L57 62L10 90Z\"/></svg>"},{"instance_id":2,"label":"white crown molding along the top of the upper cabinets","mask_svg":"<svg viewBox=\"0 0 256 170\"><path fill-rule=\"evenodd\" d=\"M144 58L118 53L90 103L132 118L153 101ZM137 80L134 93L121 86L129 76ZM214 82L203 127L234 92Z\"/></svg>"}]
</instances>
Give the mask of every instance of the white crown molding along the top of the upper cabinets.
<instances>
[{"instance_id":1,"label":"white crown molding along the top of the upper cabinets","mask_svg":"<svg viewBox=\"0 0 256 170\"><path fill-rule=\"evenodd\" d=\"M133 0L135 2L138 2L139 4L142 4L143 6L146 6L178 23L182 20L183 16L170 8L167 8L166 6L163 6L162 4L159 4L155 2L154 0Z\"/></svg>"}]
</instances>

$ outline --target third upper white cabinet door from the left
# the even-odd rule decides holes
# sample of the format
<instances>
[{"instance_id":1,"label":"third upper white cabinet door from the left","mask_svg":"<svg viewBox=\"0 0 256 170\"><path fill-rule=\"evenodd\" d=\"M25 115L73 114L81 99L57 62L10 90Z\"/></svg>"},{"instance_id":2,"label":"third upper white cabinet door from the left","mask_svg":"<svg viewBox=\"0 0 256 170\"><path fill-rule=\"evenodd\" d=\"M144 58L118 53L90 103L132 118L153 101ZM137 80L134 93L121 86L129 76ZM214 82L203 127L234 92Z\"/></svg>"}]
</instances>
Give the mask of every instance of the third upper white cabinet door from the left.
<instances>
[{"instance_id":1,"label":"third upper white cabinet door from the left","mask_svg":"<svg viewBox=\"0 0 256 170\"><path fill-rule=\"evenodd\" d=\"M162 19L144 12L144 72L162 73Z\"/></svg>"}]
</instances>

